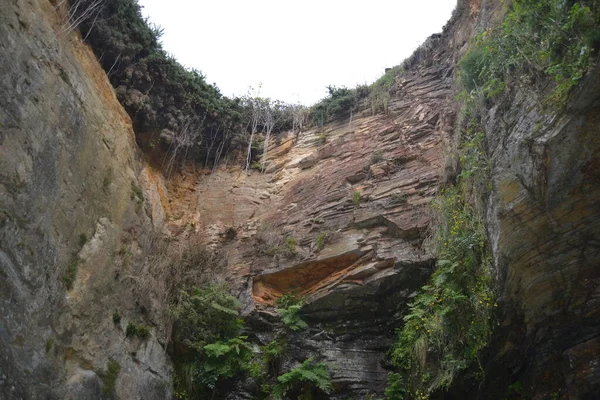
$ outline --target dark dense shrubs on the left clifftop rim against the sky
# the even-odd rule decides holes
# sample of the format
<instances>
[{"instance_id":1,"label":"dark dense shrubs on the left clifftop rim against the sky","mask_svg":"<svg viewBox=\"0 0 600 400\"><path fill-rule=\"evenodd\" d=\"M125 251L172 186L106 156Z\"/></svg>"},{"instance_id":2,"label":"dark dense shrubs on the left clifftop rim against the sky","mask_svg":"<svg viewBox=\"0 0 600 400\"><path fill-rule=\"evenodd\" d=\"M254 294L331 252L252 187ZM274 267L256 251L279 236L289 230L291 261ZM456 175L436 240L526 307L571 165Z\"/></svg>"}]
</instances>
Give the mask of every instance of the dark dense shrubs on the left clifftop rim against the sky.
<instances>
[{"instance_id":1,"label":"dark dense shrubs on the left clifftop rim against the sky","mask_svg":"<svg viewBox=\"0 0 600 400\"><path fill-rule=\"evenodd\" d=\"M159 42L162 30L148 24L136 0L104 0L97 13L83 18L94 0L72 2L73 19L131 116L140 143L164 139L164 151L187 151L213 159L219 145L231 143L241 127L239 100L229 99L195 70L170 57ZM174 152L176 152L174 154Z\"/></svg>"}]
</instances>

